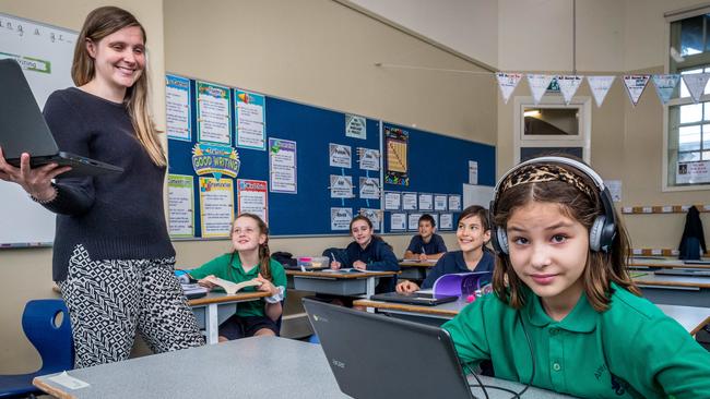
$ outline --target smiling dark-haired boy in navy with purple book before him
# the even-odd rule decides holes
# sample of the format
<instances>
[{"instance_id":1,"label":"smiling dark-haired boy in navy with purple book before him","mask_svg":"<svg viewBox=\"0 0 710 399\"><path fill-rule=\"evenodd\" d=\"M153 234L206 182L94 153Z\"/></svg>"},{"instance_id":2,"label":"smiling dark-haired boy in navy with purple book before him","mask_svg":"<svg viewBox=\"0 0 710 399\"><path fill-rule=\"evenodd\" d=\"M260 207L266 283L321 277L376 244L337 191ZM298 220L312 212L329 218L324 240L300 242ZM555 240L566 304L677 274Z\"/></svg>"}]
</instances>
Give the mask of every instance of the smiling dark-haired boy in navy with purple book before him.
<instances>
[{"instance_id":1,"label":"smiling dark-haired boy in navy with purple book before him","mask_svg":"<svg viewBox=\"0 0 710 399\"><path fill-rule=\"evenodd\" d=\"M485 249L490 240L488 210L478 205L469 206L459 215L457 225L457 240L461 251L447 252L426 276L422 283L423 289L434 287L437 278L443 275L474 270L493 271L495 258ZM419 231L422 231L422 219L419 219ZM397 285L397 292L414 292L418 289L419 286L409 280Z\"/></svg>"}]
</instances>

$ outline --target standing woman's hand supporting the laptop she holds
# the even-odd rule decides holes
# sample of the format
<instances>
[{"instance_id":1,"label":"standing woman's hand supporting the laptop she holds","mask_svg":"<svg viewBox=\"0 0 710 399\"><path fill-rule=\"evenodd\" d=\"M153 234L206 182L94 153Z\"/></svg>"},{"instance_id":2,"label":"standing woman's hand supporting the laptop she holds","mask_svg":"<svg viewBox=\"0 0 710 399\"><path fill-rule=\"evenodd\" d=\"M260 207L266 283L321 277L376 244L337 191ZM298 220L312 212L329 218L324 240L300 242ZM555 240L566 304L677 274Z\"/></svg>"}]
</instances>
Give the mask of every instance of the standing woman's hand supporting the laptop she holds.
<instances>
[{"instance_id":1,"label":"standing woman's hand supporting the laptop she holds","mask_svg":"<svg viewBox=\"0 0 710 399\"><path fill-rule=\"evenodd\" d=\"M39 168L29 167L29 154L23 153L20 157L20 168L8 164L0 148L0 179L17 183L27 194L39 201L50 201L56 195L51 186L51 179L71 170L71 167L60 167L57 164L44 165Z\"/></svg>"}]
</instances>

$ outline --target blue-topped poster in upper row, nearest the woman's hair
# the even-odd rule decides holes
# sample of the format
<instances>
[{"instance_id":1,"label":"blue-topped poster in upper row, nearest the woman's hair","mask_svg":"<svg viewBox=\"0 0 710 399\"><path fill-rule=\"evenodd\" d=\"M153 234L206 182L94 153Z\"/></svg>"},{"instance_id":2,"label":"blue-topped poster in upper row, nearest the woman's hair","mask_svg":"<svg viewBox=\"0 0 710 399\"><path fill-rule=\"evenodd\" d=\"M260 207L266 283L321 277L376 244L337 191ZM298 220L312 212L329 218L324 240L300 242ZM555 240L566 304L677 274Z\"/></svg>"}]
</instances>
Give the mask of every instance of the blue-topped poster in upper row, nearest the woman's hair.
<instances>
[{"instance_id":1,"label":"blue-topped poster in upper row, nearest the woman's hair","mask_svg":"<svg viewBox=\"0 0 710 399\"><path fill-rule=\"evenodd\" d=\"M190 80L165 75L165 119L168 138L192 141Z\"/></svg>"}]
</instances>

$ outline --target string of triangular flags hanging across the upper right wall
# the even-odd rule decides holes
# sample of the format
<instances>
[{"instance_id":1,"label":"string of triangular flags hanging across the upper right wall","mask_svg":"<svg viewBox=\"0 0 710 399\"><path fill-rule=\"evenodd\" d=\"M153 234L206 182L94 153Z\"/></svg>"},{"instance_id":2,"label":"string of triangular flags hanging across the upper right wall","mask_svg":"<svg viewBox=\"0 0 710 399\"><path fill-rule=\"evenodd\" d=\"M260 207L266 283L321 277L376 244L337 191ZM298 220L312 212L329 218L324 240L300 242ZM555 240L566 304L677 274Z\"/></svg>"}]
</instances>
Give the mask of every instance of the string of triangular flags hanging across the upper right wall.
<instances>
[{"instance_id":1,"label":"string of triangular flags hanging across the upper right wall","mask_svg":"<svg viewBox=\"0 0 710 399\"><path fill-rule=\"evenodd\" d=\"M582 76L582 75L543 75L543 74L524 74L528 80L528 85L530 86L530 92L532 93L533 101L535 105L547 92L549 84L553 80L557 81L557 86L559 87L559 93L563 95L563 99L566 105L572 100L575 93L582 84L583 80L587 80L596 107L601 107L604 102L604 98L608 93L608 89L614 83L615 75L606 76ZM518 86L518 83L522 80L522 73L506 73L498 72L496 73L496 80L498 81L498 87L500 87L500 94L506 104L510 99L510 95ZM710 80L710 73L693 73L693 74L660 74L660 75L624 75L622 80L624 81L624 87L626 88L626 94L628 94L631 104L636 107L641 98L641 94L649 84L649 81L653 82L655 86L655 93L659 96L659 99L663 105L667 104L673 95L673 92L683 78L690 97L693 97L694 102L700 100L700 96L705 92L705 86Z\"/></svg>"}]
</instances>

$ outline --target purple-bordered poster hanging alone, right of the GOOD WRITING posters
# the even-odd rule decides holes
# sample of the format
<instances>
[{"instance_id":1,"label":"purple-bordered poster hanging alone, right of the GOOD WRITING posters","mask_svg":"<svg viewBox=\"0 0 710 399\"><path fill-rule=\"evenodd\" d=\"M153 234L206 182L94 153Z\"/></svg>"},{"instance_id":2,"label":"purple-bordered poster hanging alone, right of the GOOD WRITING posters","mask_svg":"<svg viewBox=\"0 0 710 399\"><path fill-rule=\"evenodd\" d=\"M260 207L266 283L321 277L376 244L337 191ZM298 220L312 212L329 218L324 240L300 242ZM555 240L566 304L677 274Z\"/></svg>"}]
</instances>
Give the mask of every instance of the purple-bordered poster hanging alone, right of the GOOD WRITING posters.
<instances>
[{"instance_id":1,"label":"purple-bordered poster hanging alone, right of the GOOD WRITING posters","mask_svg":"<svg viewBox=\"0 0 710 399\"><path fill-rule=\"evenodd\" d=\"M269 180L272 193L297 193L296 142L269 138Z\"/></svg>"}]
</instances>

